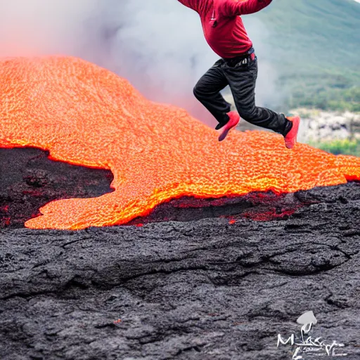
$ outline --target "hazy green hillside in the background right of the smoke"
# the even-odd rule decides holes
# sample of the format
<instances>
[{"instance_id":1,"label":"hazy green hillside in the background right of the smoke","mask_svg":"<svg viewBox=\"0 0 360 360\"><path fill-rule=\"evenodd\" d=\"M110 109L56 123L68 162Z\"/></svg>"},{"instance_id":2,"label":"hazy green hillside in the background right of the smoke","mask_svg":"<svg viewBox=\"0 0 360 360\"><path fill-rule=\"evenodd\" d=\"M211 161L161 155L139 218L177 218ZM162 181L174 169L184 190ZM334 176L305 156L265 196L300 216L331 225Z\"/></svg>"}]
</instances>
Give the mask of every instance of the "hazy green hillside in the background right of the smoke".
<instances>
[{"instance_id":1,"label":"hazy green hillside in the background right of the smoke","mask_svg":"<svg viewBox=\"0 0 360 360\"><path fill-rule=\"evenodd\" d=\"M360 111L360 4L276 0L257 13L270 34L288 105ZM245 22L249 21L244 19Z\"/></svg>"}]
</instances>

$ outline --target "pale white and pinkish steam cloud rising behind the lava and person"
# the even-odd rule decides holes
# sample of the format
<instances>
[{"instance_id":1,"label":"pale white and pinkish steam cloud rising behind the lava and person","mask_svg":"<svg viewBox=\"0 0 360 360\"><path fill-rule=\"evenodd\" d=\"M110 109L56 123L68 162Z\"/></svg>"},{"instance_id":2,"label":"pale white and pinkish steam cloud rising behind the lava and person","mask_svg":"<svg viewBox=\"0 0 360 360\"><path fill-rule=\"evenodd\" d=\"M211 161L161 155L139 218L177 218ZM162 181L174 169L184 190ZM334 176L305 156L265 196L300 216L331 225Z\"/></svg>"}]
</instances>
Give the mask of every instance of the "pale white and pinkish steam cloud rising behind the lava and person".
<instances>
[{"instance_id":1,"label":"pale white and pinkish steam cloud rising behind the lava and person","mask_svg":"<svg viewBox=\"0 0 360 360\"><path fill-rule=\"evenodd\" d=\"M259 58L257 104L282 102L276 71L263 60L267 34L245 23ZM0 0L0 56L65 54L129 79L153 101L216 121L193 97L193 86L219 58L203 37L198 14L176 0Z\"/></svg>"}]
</instances>

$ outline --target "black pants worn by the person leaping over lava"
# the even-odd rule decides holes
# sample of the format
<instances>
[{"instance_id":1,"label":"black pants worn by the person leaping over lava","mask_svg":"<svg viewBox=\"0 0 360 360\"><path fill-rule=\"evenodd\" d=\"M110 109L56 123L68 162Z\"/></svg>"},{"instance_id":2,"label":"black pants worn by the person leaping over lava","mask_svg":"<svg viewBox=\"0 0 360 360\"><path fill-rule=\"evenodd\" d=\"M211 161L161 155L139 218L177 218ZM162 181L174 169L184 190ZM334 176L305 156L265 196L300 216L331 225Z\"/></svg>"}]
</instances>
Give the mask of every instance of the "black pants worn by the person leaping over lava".
<instances>
[{"instance_id":1,"label":"black pants worn by the person leaping over lava","mask_svg":"<svg viewBox=\"0 0 360 360\"><path fill-rule=\"evenodd\" d=\"M244 58L248 59L247 63L241 64ZM224 124L229 120L226 113L231 110L231 104L225 101L220 91L229 85L241 118L285 136L292 126L291 122L283 114L255 106L256 79L257 58L254 60L250 56L240 56L232 60L221 58L200 78L194 87L194 95L220 124Z\"/></svg>"}]
</instances>

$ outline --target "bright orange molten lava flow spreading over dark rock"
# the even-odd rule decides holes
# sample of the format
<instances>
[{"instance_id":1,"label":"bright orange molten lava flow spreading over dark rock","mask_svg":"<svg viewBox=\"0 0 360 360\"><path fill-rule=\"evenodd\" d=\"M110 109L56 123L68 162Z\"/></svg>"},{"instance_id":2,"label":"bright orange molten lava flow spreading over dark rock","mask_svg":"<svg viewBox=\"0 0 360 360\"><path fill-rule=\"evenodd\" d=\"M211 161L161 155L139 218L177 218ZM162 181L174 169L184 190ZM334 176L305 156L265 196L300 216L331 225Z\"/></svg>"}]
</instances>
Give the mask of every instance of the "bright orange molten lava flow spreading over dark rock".
<instances>
[{"instance_id":1,"label":"bright orange molten lava flow spreading over dark rock","mask_svg":"<svg viewBox=\"0 0 360 360\"><path fill-rule=\"evenodd\" d=\"M176 84L174 84L176 86ZM0 147L110 169L113 193L56 200L32 229L125 224L171 198L294 192L360 180L360 158L335 156L264 131L217 132L172 105L148 101L127 80L70 57L0 60Z\"/></svg>"}]
</instances>

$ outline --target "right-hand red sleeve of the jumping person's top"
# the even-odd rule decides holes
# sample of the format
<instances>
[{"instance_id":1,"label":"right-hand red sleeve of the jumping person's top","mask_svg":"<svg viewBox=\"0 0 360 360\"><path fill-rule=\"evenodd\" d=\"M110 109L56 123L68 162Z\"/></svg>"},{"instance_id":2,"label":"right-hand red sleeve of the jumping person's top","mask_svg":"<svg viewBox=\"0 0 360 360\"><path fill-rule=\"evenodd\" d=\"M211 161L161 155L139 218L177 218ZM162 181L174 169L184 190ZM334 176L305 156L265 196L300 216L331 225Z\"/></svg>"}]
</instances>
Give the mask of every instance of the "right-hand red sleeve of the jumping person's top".
<instances>
[{"instance_id":1,"label":"right-hand red sleeve of the jumping person's top","mask_svg":"<svg viewBox=\"0 0 360 360\"><path fill-rule=\"evenodd\" d=\"M217 0L219 12L226 16L247 15L257 13L266 8L272 0Z\"/></svg>"}]
</instances>

